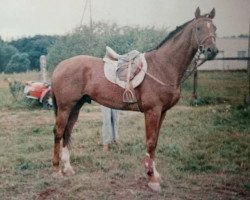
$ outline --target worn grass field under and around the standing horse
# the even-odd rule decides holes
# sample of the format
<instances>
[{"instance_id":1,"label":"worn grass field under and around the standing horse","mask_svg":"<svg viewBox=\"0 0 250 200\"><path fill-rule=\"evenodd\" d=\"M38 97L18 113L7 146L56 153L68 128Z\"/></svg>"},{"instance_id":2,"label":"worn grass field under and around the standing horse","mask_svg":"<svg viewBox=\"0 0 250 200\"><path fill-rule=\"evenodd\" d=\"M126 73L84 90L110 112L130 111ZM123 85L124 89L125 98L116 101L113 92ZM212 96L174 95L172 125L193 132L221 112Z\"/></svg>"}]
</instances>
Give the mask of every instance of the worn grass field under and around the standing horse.
<instances>
[{"instance_id":1,"label":"worn grass field under and around the standing horse","mask_svg":"<svg viewBox=\"0 0 250 200\"><path fill-rule=\"evenodd\" d=\"M250 107L245 72L199 73L199 99L190 106L188 80L160 131L157 169L162 192L147 187L144 117L122 111L119 145L102 152L100 106L84 105L72 137L76 175L54 179L53 111L8 81L37 80L35 72L0 75L0 199L250 199Z\"/></svg>"}]
</instances>

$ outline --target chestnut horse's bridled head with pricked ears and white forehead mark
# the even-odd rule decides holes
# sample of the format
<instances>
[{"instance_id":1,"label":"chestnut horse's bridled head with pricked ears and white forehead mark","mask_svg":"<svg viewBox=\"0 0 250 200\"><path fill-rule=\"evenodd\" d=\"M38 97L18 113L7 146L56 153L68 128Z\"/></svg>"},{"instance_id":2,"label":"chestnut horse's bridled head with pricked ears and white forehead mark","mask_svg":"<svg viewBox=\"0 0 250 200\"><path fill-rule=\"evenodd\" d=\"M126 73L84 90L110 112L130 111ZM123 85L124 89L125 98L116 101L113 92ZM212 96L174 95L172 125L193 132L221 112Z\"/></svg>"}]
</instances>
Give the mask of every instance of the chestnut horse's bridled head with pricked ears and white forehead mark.
<instances>
[{"instance_id":1,"label":"chestnut horse's bridled head with pricked ears and white forehead mark","mask_svg":"<svg viewBox=\"0 0 250 200\"><path fill-rule=\"evenodd\" d=\"M200 52L204 54L207 60L213 59L218 53L215 43L216 26L212 21L214 16L215 9L212 9L209 14L201 15L198 7L195 11L195 19L193 21L195 42Z\"/></svg>"}]
</instances>

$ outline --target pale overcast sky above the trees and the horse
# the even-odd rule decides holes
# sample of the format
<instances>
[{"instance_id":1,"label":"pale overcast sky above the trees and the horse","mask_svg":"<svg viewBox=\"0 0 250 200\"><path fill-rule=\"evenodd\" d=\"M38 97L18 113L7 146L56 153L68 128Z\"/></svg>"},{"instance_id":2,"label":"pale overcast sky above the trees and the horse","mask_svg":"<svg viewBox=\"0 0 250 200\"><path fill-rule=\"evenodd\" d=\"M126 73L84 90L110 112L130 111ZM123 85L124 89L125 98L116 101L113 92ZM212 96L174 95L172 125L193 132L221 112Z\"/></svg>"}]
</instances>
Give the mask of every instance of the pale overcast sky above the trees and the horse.
<instances>
[{"instance_id":1,"label":"pale overcast sky above the trees and the horse","mask_svg":"<svg viewBox=\"0 0 250 200\"><path fill-rule=\"evenodd\" d=\"M80 25L87 0L0 0L0 36L4 40L36 34L63 35ZM89 8L89 4L87 4ZM169 31L216 9L217 35L248 34L250 0L91 0L94 22L120 26L166 27ZM83 24L90 12L84 12Z\"/></svg>"}]
</instances>

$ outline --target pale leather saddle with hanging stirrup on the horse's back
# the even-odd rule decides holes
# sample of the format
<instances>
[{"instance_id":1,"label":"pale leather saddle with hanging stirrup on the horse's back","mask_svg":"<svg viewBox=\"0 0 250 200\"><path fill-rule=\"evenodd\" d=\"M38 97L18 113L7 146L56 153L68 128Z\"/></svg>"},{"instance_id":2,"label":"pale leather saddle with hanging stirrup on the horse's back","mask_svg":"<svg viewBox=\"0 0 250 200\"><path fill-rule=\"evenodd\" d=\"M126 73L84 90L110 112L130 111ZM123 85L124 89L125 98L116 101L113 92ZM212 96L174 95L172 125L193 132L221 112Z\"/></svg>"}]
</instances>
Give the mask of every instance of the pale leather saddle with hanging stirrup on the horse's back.
<instances>
[{"instance_id":1,"label":"pale leather saddle with hanging stirrup on the horse's back","mask_svg":"<svg viewBox=\"0 0 250 200\"><path fill-rule=\"evenodd\" d=\"M106 47L104 61L107 60L117 62L116 77L120 81L126 82L125 91L123 93L123 102L136 103L137 99L131 81L142 69L140 52L132 50L126 54L120 55L110 47Z\"/></svg>"}]
</instances>

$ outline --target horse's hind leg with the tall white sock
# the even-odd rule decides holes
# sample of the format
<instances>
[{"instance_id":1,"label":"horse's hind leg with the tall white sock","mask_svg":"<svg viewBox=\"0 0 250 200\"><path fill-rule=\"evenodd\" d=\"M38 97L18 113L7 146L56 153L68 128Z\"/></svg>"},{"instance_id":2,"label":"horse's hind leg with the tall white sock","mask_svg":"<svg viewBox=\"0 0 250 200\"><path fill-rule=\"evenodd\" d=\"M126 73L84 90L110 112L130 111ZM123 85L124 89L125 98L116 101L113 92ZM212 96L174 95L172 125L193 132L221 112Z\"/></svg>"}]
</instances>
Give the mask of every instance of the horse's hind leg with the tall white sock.
<instances>
[{"instance_id":1,"label":"horse's hind leg with the tall white sock","mask_svg":"<svg viewBox=\"0 0 250 200\"><path fill-rule=\"evenodd\" d=\"M73 109L71 111L70 116L69 116L69 120L68 120L68 124L66 126L66 129L65 129L65 132L63 135L62 162L64 164L63 173L66 176L71 176L71 175L75 174L75 172L70 164L69 145L70 145L71 132L72 132L72 129L73 129L75 122L78 119L78 115L79 115L79 109Z\"/></svg>"}]
</instances>

